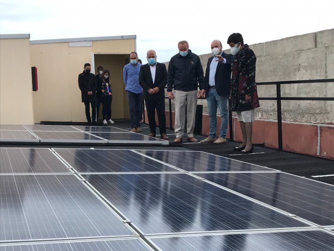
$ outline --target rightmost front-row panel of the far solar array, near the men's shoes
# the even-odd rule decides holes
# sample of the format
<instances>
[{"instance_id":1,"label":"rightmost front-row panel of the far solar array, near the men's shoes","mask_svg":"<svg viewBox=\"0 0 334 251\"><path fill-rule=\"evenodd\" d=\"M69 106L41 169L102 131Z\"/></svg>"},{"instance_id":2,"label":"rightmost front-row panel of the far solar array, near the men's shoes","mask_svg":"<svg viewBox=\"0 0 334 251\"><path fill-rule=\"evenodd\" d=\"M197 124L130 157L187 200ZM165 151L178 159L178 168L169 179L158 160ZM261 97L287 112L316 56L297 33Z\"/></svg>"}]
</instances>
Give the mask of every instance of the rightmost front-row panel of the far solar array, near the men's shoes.
<instances>
[{"instance_id":1,"label":"rightmost front-row panel of the far solar array, near the men's shoes","mask_svg":"<svg viewBox=\"0 0 334 251\"><path fill-rule=\"evenodd\" d=\"M168 145L169 142L158 138L149 137L137 133L92 133L98 137L108 140L108 143L140 143Z\"/></svg>"}]
</instances>

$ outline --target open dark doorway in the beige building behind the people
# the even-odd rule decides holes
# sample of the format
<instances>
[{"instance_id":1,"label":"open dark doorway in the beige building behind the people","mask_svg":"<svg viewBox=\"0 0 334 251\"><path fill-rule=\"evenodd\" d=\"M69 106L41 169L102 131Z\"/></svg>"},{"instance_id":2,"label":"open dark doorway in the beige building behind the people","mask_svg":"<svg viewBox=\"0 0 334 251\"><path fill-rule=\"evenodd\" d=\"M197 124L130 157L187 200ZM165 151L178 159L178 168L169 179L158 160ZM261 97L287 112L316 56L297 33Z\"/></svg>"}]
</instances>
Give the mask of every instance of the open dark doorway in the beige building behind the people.
<instances>
[{"instance_id":1,"label":"open dark doorway in the beige building behind the people","mask_svg":"<svg viewBox=\"0 0 334 251\"><path fill-rule=\"evenodd\" d=\"M94 60L94 61L93 61ZM129 119L127 94L123 83L123 67L129 63L129 54L94 53L92 66L97 74L97 67L102 66L110 72L112 90L111 119ZM99 109L99 120L102 119L102 105Z\"/></svg>"}]
</instances>

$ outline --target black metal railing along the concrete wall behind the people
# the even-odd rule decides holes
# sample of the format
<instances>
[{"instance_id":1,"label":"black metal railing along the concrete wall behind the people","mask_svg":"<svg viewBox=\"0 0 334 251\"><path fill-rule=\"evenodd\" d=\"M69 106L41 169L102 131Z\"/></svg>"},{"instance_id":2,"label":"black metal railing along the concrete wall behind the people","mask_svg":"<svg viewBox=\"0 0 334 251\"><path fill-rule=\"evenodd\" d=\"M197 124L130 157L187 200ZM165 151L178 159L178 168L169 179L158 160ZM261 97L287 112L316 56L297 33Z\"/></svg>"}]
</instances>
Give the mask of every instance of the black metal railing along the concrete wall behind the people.
<instances>
[{"instance_id":1,"label":"black metal railing along the concrete wall behind the people","mask_svg":"<svg viewBox=\"0 0 334 251\"><path fill-rule=\"evenodd\" d=\"M293 81L273 81L273 82L258 82L256 85L275 85L276 97L259 97L259 100L276 100L277 109L277 135L278 135L278 149L283 150L283 137L282 137L282 100L308 100L308 101L334 101L334 97L282 97L281 85L282 84L312 84L312 83L328 83L334 82L334 78L330 79L312 79L312 80L293 80ZM164 97L169 99L168 97ZM172 120L172 100L169 99L169 111L170 111L170 129L173 129ZM230 129L230 141L234 140L233 137L233 122L232 112L229 111L229 129Z\"/></svg>"}]
</instances>

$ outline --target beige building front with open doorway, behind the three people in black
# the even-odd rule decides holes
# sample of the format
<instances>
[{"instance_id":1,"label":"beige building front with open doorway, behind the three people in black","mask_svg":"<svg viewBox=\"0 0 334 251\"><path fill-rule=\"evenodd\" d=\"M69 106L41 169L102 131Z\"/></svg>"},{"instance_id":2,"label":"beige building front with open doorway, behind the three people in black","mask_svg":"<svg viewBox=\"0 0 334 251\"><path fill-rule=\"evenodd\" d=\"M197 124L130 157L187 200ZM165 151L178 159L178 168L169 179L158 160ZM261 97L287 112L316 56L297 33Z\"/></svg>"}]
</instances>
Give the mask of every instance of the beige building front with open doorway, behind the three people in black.
<instances>
[{"instance_id":1,"label":"beige building front with open doorway, behind the three people in black","mask_svg":"<svg viewBox=\"0 0 334 251\"><path fill-rule=\"evenodd\" d=\"M114 84L112 118L128 117L120 69L134 50L135 36L31 41L31 62L39 74L39 90L34 93L35 122L86 121L78 87L78 75L85 63L92 65L92 73L99 65L109 68Z\"/></svg>"}]
</instances>

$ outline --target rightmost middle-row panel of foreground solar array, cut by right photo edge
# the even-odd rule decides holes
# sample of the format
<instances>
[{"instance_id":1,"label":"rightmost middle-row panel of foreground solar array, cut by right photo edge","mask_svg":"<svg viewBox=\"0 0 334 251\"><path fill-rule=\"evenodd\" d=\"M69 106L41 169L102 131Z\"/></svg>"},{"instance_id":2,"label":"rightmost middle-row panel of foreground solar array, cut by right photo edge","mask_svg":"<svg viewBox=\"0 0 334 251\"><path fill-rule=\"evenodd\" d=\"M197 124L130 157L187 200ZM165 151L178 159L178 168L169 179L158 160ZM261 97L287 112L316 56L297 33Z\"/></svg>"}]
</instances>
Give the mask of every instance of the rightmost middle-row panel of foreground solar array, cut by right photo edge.
<instances>
[{"instance_id":1,"label":"rightmost middle-row panel of foreground solar array, cut by right photo edge","mask_svg":"<svg viewBox=\"0 0 334 251\"><path fill-rule=\"evenodd\" d=\"M285 173L196 175L316 224L334 224L334 186Z\"/></svg>"}]
</instances>

